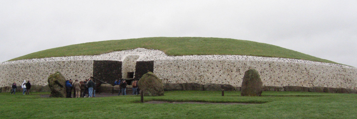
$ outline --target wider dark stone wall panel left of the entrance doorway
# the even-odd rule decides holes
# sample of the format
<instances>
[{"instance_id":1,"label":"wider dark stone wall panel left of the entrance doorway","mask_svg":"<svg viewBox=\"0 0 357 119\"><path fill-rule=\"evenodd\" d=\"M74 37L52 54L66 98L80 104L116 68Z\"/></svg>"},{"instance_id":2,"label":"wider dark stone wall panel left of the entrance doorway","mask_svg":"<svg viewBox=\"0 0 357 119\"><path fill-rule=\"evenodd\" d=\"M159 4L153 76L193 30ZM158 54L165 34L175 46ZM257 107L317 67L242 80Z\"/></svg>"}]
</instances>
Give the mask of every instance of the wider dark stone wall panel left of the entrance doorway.
<instances>
[{"instance_id":1,"label":"wider dark stone wall panel left of the entrance doorway","mask_svg":"<svg viewBox=\"0 0 357 119\"><path fill-rule=\"evenodd\" d=\"M115 79L122 78L121 65L121 61L94 60L93 77L114 85Z\"/></svg>"}]
</instances>

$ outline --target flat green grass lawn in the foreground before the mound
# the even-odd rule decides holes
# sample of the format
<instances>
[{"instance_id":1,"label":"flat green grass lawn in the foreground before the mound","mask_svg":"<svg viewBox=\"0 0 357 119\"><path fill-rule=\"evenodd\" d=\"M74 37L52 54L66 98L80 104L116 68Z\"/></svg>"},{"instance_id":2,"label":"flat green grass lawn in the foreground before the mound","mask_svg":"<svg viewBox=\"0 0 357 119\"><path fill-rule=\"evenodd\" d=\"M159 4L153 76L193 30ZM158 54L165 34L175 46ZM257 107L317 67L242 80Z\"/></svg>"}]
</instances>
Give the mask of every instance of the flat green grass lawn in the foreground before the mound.
<instances>
[{"instance_id":1,"label":"flat green grass lawn in the foreground before the mound","mask_svg":"<svg viewBox=\"0 0 357 119\"><path fill-rule=\"evenodd\" d=\"M35 93L34 93L35 94ZM42 93L43 94L43 93ZM0 118L55 119L356 119L356 94L264 91L263 96L239 96L239 91L166 91L145 101L203 101L261 103L146 104L140 96L102 98L40 98L39 95L0 93Z\"/></svg>"}]
</instances>

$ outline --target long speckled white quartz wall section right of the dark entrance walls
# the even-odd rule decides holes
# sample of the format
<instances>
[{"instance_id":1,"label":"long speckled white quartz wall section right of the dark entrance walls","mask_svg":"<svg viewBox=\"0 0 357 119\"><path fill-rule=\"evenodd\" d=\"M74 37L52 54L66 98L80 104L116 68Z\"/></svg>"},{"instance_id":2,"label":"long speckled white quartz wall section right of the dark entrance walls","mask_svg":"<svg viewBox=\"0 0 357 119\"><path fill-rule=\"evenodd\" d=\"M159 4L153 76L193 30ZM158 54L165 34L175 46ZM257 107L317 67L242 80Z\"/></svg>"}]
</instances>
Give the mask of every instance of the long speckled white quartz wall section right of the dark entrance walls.
<instances>
[{"instance_id":1,"label":"long speckled white quartz wall section right of the dark entrance walls","mask_svg":"<svg viewBox=\"0 0 357 119\"><path fill-rule=\"evenodd\" d=\"M344 66L256 60L155 60L154 73L164 83L216 83L241 86L256 69L265 86L324 86L357 89L357 69Z\"/></svg>"}]
</instances>

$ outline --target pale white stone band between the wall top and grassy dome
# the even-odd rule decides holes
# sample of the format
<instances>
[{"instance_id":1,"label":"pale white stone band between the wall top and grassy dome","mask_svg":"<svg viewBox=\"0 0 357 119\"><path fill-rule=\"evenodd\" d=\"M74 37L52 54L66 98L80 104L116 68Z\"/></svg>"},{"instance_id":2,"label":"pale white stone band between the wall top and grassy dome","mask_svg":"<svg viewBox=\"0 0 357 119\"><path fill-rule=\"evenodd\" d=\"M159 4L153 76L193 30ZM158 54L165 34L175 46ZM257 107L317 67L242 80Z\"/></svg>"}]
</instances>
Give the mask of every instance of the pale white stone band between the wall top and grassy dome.
<instances>
[{"instance_id":1,"label":"pale white stone band between the wall top and grassy dome","mask_svg":"<svg viewBox=\"0 0 357 119\"><path fill-rule=\"evenodd\" d=\"M351 66L331 64L331 63L321 63L316 61L308 60L298 60L298 59L287 59L287 58L269 58L269 57L258 57L258 56L246 56L246 55L184 55L184 56L169 56L160 50L137 48L133 50L115 51L111 53L101 54L101 55L91 55L91 56L66 56L66 57L53 57L53 58L41 58L41 59L26 59L26 60L16 60L16 61L6 61L0 65L5 64L17 64L17 63L33 63L33 62L43 62L43 61L75 61L75 60L114 60L123 61L126 56L129 55L139 55L137 61L151 61L151 60L251 60L251 61L274 61L274 62L285 62L285 63L303 63L303 64L313 64L313 65L326 65L326 66L336 66L341 68L351 68L357 69Z\"/></svg>"}]
</instances>

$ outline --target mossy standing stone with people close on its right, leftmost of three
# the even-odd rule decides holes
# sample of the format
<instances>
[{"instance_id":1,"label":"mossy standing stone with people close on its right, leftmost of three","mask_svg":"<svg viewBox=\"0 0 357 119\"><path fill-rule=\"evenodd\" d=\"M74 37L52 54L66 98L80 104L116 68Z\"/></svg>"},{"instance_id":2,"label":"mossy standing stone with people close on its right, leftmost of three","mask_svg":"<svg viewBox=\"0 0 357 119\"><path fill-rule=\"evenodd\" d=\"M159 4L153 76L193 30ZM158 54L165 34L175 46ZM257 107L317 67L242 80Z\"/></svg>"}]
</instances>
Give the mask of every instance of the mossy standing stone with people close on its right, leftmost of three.
<instances>
[{"instance_id":1,"label":"mossy standing stone with people close on its right, leftmost of three","mask_svg":"<svg viewBox=\"0 0 357 119\"><path fill-rule=\"evenodd\" d=\"M65 98L66 97L66 84L65 77L62 76L60 72L56 72L55 74L51 74L47 79L48 86L51 89L50 97L54 98Z\"/></svg>"}]
</instances>

